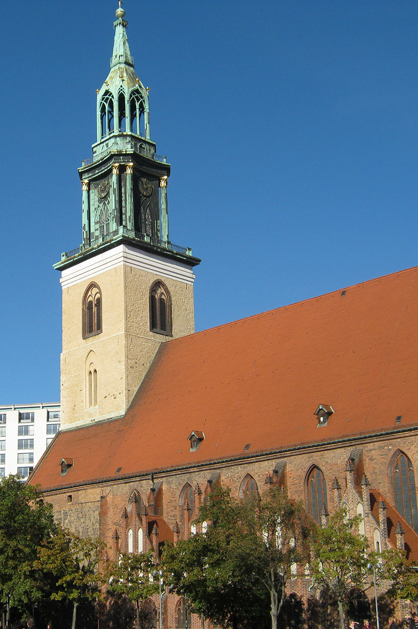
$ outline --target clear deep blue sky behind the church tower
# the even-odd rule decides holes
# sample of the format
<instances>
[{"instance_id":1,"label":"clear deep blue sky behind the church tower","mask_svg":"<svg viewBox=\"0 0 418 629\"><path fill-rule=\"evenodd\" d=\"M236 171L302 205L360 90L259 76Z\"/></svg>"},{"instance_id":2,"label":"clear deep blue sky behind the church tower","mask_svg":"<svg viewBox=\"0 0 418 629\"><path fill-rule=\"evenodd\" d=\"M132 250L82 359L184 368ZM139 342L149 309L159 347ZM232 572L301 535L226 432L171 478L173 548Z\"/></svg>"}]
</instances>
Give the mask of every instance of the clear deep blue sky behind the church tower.
<instances>
[{"instance_id":1,"label":"clear deep blue sky behind the church tower","mask_svg":"<svg viewBox=\"0 0 418 629\"><path fill-rule=\"evenodd\" d=\"M60 253L81 243L115 0L9 4L0 404L59 400ZM418 4L126 0L196 330L418 264ZM382 296L382 307L384 297Z\"/></svg>"}]
</instances>

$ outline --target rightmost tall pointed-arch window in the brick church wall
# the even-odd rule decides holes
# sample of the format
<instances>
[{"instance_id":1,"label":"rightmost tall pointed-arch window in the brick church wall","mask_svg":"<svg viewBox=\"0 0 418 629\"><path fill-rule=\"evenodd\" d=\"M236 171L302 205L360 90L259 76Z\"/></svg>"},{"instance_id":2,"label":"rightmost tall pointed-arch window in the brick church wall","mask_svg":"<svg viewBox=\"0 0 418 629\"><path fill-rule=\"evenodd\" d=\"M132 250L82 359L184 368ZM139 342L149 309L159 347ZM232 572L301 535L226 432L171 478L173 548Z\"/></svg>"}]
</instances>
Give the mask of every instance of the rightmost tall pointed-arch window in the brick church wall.
<instances>
[{"instance_id":1,"label":"rightmost tall pointed-arch window in the brick church wall","mask_svg":"<svg viewBox=\"0 0 418 629\"><path fill-rule=\"evenodd\" d=\"M408 457L403 453L398 456L393 467L392 482L397 511L414 531L418 532L414 469Z\"/></svg>"}]
</instances>

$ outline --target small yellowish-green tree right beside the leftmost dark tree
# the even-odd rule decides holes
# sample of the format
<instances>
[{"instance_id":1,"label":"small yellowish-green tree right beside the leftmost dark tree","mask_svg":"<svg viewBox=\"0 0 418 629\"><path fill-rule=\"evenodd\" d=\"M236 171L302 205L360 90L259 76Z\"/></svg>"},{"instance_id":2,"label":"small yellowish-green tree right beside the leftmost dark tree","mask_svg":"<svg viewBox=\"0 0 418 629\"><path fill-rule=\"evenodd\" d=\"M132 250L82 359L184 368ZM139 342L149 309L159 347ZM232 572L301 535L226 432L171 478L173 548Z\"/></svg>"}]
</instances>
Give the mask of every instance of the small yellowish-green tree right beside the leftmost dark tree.
<instances>
[{"instance_id":1,"label":"small yellowish-green tree right beside the leftmost dark tree","mask_svg":"<svg viewBox=\"0 0 418 629\"><path fill-rule=\"evenodd\" d=\"M77 606L81 601L98 603L103 584L98 571L102 551L100 540L84 539L62 528L38 548L38 567L54 579L51 598L72 603L71 629L76 628Z\"/></svg>"}]
</instances>

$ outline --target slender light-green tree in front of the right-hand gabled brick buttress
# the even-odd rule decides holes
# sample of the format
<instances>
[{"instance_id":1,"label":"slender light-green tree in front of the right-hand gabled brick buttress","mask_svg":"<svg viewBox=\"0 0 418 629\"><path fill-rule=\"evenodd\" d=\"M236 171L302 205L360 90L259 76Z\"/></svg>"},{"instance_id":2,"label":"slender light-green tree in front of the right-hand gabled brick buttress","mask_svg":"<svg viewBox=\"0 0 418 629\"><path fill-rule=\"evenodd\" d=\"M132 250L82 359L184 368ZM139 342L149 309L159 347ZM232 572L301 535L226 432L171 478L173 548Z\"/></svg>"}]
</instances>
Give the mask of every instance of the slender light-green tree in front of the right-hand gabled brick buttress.
<instances>
[{"instance_id":1,"label":"slender light-green tree in front of the right-hand gabled brick buttress","mask_svg":"<svg viewBox=\"0 0 418 629\"><path fill-rule=\"evenodd\" d=\"M358 533L360 521L360 515L349 518L346 509L339 509L327 527L316 528L311 543L314 577L336 597L341 629L349 590L364 589L364 576L368 574L368 542Z\"/></svg>"}]
</instances>

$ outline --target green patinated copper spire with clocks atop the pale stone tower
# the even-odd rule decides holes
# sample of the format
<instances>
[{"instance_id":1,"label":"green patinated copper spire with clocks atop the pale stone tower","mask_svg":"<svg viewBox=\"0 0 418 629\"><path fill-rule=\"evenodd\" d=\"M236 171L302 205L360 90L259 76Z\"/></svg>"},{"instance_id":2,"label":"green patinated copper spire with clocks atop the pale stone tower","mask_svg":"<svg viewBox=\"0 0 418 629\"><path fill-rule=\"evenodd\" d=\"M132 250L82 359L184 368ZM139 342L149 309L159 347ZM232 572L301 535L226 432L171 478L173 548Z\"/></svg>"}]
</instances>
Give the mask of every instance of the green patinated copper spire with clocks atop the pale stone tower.
<instances>
[{"instance_id":1,"label":"green patinated copper spire with clocks atop the pale stone tower","mask_svg":"<svg viewBox=\"0 0 418 629\"><path fill-rule=\"evenodd\" d=\"M191 249L169 240L170 164L150 139L149 94L135 72L121 6L116 11L110 72L97 96L97 142L82 162L82 244L56 269L128 240L136 247L199 264Z\"/></svg>"}]
</instances>

